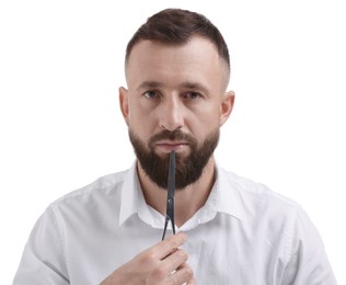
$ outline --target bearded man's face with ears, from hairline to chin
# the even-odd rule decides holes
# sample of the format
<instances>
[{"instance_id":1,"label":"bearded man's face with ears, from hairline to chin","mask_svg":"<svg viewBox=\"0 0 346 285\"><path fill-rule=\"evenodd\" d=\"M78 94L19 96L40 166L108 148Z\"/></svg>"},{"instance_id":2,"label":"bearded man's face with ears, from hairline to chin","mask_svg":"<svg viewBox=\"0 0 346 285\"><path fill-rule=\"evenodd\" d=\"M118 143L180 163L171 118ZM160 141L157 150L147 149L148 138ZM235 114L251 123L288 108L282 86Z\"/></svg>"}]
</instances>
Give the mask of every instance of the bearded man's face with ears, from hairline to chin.
<instances>
[{"instance_id":1,"label":"bearded man's face with ears, from hairline to chin","mask_svg":"<svg viewBox=\"0 0 346 285\"><path fill-rule=\"evenodd\" d=\"M169 155L176 152L176 187L194 183L218 144L233 94L215 46L193 37L182 46L142 41L127 66L120 106L130 141L148 176L166 187Z\"/></svg>"}]
</instances>

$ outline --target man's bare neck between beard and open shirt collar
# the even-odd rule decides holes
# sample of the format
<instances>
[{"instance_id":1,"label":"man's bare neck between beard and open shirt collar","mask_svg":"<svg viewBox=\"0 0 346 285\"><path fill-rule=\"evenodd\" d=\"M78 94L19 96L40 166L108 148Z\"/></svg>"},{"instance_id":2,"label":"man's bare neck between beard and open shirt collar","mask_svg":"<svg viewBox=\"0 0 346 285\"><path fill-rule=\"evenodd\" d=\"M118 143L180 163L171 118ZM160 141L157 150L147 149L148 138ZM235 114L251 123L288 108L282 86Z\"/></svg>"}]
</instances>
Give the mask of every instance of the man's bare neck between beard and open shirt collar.
<instances>
[{"instance_id":1,"label":"man's bare neck between beard and open shirt collar","mask_svg":"<svg viewBox=\"0 0 346 285\"><path fill-rule=\"evenodd\" d=\"M166 190L153 183L139 162L137 162L137 172L147 204L165 216ZM205 205L214 183L215 161L211 157L198 181L175 192L175 224L177 227L181 227Z\"/></svg>"}]
</instances>

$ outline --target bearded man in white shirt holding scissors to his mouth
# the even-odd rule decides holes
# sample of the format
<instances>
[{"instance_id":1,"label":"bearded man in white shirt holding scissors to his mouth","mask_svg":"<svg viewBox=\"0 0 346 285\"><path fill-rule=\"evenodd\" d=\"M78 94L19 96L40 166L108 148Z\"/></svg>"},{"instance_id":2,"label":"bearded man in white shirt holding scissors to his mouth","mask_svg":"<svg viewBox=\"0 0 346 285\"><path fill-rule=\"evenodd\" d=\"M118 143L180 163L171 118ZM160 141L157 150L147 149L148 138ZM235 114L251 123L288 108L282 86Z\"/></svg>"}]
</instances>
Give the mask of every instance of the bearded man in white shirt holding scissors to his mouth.
<instances>
[{"instance_id":1,"label":"bearded man in white shirt holding scissors to his mouth","mask_svg":"<svg viewBox=\"0 0 346 285\"><path fill-rule=\"evenodd\" d=\"M14 284L336 284L305 213L214 160L234 103L218 29L163 10L126 52L119 102L137 161L53 203ZM160 241L173 150L177 233Z\"/></svg>"}]
</instances>

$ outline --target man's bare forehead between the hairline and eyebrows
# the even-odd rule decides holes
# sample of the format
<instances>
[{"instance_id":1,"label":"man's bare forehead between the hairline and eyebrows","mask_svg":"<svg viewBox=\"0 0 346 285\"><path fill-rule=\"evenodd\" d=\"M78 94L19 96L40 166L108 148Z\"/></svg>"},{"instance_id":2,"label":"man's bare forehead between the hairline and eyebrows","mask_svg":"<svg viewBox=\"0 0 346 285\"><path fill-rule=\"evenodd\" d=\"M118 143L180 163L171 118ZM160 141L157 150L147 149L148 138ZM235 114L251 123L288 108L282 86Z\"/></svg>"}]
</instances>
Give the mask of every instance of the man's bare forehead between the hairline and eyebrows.
<instances>
[{"instance_id":1,"label":"man's bare forehead between the hairline and eyebrows","mask_svg":"<svg viewBox=\"0 0 346 285\"><path fill-rule=\"evenodd\" d=\"M149 78L149 75L164 78L176 77L180 73L187 77L186 81L195 82L200 80L193 78L203 72L209 73L208 77L218 75L219 79L222 77L224 81L229 76L227 64L218 54L216 46L201 36L194 36L181 45L142 39L134 46L126 62L125 72L127 80L134 76L142 80L157 80L157 78Z\"/></svg>"}]
</instances>

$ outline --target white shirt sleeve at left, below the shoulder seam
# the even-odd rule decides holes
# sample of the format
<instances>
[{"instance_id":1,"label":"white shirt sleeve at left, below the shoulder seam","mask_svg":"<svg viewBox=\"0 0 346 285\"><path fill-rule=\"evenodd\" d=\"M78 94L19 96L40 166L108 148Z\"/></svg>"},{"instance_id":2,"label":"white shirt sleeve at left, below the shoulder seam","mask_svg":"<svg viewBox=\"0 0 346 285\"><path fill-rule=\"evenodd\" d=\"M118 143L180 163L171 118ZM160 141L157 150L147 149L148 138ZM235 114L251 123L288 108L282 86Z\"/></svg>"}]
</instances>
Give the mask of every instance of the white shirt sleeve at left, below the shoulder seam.
<instances>
[{"instance_id":1,"label":"white shirt sleeve at left, below the shoulder seam","mask_svg":"<svg viewBox=\"0 0 346 285\"><path fill-rule=\"evenodd\" d=\"M25 244L13 285L66 285L64 237L53 207L48 207L34 226Z\"/></svg>"}]
</instances>

